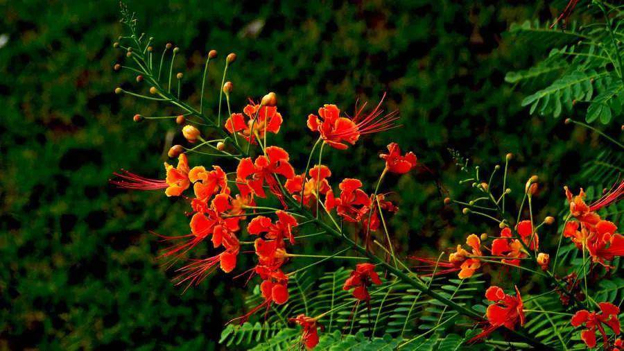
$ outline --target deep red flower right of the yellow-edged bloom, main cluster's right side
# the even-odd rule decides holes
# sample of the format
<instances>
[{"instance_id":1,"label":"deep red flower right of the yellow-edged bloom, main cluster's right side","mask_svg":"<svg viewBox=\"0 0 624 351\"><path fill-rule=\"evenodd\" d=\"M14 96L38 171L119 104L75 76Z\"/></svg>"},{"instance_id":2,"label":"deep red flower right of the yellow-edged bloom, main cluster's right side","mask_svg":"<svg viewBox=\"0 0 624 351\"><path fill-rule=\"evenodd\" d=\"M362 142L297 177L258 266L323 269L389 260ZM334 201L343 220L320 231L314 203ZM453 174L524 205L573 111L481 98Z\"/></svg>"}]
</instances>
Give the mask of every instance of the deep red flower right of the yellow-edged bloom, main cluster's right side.
<instances>
[{"instance_id":1,"label":"deep red flower right of the yellow-edged bloom, main cluster's right side","mask_svg":"<svg viewBox=\"0 0 624 351\"><path fill-rule=\"evenodd\" d=\"M360 189L362 182L357 179L347 178L340 183L340 197L333 196L333 190L329 189L325 196L325 208L327 211L336 208L336 213L343 217L345 221L359 222L364 214L368 212L371 200L368 195Z\"/></svg>"}]
</instances>

